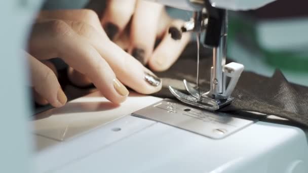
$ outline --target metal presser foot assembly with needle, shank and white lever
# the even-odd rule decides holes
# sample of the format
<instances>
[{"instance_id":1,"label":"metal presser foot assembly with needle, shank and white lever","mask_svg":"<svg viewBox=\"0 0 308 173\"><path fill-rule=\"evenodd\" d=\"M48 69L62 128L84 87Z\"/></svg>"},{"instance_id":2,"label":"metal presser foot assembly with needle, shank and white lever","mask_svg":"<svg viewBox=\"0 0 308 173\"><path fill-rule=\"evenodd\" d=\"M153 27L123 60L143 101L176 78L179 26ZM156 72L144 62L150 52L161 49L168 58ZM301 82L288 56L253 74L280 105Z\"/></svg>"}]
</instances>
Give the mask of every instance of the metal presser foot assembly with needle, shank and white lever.
<instances>
[{"instance_id":1,"label":"metal presser foot assembly with needle, shank and white lever","mask_svg":"<svg viewBox=\"0 0 308 173\"><path fill-rule=\"evenodd\" d=\"M201 29L206 27L206 30L209 31L208 33L211 34L208 38L213 38L217 40L217 44L213 44L213 40L208 41L208 44L206 44L207 46L210 45L213 48L213 66L211 67L210 91L206 93L200 93L199 86L196 89L186 80L184 80L183 82L185 85L185 89L189 93L189 95L172 88L172 86L169 86L169 90L178 100L186 104L197 106L210 111L215 111L234 100L234 98L231 97L231 94L235 89L235 86L239 80L242 71L244 70L244 66L235 62L225 65L227 40L227 12L222 10L218 11L219 13L217 14L220 14L220 16L218 15L216 21L209 22L209 20L214 20L215 16L211 18L206 18L207 15L204 15L205 11L199 14L195 13L194 19L189 21L189 23L191 23L192 21L194 22L194 25L192 25L195 27L194 29L188 28L183 29L183 31L193 30L200 33ZM214 24L220 25L213 26ZM183 27L185 26L190 25L184 25ZM214 32L217 32L217 28L220 28L218 30L219 33L214 34ZM211 32L211 30L214 32ZM213 35L216 35L217 37L214 37Z\"/></svg>"}]
</instances>

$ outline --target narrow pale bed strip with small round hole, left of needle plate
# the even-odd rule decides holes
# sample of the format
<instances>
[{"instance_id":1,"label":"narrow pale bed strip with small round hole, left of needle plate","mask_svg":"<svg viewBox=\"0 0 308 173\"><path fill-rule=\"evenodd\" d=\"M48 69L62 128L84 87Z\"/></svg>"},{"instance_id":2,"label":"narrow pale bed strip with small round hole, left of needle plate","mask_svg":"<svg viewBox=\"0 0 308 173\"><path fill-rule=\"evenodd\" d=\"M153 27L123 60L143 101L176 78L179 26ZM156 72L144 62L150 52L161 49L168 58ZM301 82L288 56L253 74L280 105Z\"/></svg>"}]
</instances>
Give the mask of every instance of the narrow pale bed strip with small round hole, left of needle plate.
<instances>
[{"instance_id":1,"label":"narrow pale bed strip with small round hole, left of needle plate","mask_svg":"<svg viewBox=\"0 0 308 173\"><path fill-rule=\"evenodd\" d=\"M136 120L124 117L103 127L98 127L80 138L61 142L53 147L38 151L34 159L36 171L55 171L60 167L65 167L71 162L88 157L103 148L108 148L113 143L120 142L154 123L145 119ZM117 131L118 128L121 130ZM41 140L40 144L42 145L42 139L37 140Z\"/></svg>"}]
</instances>

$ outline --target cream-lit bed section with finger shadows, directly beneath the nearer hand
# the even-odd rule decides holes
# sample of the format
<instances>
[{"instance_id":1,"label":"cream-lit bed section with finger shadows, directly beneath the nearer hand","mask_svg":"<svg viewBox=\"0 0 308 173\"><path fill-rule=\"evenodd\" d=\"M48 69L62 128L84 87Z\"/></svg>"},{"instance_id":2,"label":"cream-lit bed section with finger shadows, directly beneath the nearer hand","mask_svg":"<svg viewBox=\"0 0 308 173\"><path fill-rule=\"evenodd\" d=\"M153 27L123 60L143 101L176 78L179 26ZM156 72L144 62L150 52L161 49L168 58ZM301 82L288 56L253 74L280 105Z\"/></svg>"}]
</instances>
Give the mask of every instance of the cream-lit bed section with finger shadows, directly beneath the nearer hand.
<instances>
[{"instance_id":1,"label":"cream-lit bed section with finger shadows, directly beneath the nearer hand","mask_svg":"<svg viewBox=\"0 0 308 173\"><path fill-rule=\"evenodd\" d=\"M38 118L46 118L31 123L34 126L34 134L63 141L159 100L161 99L132 93L121 106L115 106L96 92L70 101L62 108L38 114Z\"/></svg>"}]
</instances>

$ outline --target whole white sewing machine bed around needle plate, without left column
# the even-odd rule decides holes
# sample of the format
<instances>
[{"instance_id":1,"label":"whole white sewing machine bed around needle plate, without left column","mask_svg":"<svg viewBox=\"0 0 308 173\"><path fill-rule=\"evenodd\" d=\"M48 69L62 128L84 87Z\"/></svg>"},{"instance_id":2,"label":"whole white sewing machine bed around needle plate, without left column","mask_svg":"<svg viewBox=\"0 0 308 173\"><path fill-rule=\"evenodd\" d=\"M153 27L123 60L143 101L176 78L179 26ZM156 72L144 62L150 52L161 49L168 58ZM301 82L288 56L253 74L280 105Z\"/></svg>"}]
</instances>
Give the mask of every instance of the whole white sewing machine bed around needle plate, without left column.
<instances>
[{"instance_id":1,"label":"whole white sewing machine bed around needle plate, without left column","mask_svg":"<svg viewBox=\"0 0 308 173\"><path fill-rule=\"evenodd\" d=\"M40 114L49 117L33 121L36 172L308 171L306 134L298 127L255 121L213 139L130 115L160 100L133 95L109 109L94 93Z\"/></svg>"}]
</instances>

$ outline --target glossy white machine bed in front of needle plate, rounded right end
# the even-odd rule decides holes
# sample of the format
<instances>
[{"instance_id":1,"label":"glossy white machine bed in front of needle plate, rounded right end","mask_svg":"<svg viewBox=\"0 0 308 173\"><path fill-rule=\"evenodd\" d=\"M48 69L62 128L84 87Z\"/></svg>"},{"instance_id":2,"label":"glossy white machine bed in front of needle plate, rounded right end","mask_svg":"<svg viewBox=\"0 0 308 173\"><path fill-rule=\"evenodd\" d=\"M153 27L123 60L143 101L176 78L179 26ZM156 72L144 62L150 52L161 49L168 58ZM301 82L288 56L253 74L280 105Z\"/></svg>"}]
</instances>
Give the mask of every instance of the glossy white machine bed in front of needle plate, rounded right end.
<instances>
[{"instance_id":1,"label":"glossy white machine bed in front of needle plate, rounded right end","mask_svg":"<svg viewBox=\"0 0 308 173\"><path fill-rule=\"evenodd\" d=\"M299 129L262 122L223 140L157 123L56 172L284 172L306 147Z\"/></svg>"}]
</instances>

